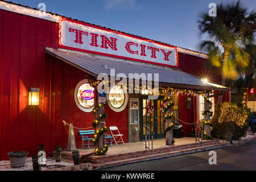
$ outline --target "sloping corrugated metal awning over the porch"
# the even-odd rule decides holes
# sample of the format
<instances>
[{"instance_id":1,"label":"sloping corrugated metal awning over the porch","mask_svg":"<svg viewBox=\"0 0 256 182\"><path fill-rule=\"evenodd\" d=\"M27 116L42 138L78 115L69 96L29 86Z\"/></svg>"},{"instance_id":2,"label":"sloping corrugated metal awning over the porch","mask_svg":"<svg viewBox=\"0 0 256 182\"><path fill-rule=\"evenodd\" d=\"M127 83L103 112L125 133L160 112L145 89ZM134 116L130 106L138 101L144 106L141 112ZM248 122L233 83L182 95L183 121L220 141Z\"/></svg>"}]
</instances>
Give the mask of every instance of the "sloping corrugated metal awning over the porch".
<instances>
[{"instance_id":1,"label":"sloping corrugated metal awning over the porch","mask_svg":"<svg viewBox=\"0 0 256 182\"><path fill-rule=\"evenodd\" d=\"M97 77L100 73L105 73L110 76L109 68L111 68L115 69L115 75L123 73L127 78L129 77L129 73L138 73L139 75L141 73L145 73L146 75L147 73L152 73L153 81L154 73L158 73L159 86L199 90L229 90L225 86L210 82L203 84L201 78L173 68L94 55L92 53L69 51L66 49L53 49L46 47L46 53L56 57L57 59L63 60L94 77Z\"/></svg>"}]
</instances>

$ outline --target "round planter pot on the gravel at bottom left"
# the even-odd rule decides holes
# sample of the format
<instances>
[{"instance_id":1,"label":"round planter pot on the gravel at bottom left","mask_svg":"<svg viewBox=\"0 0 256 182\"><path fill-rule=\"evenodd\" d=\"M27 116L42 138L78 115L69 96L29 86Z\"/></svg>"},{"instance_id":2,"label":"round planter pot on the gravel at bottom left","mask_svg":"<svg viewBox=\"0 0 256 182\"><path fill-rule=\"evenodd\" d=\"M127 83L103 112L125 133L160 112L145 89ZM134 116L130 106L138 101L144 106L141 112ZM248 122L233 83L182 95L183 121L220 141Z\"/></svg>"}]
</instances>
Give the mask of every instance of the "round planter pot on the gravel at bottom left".
<instances>
[{"instance_id":1,"label":"round planter pot on the gravel at bottom left","mask_svg":"<svg viewBox=\"0 0 256 182\"><path fill-rule=\"evenodd\" d=\"M28 152L14 151L14 152L9 152L8 155L10 159L11 168L19 168L19 167L25 166Z\"/></svg>"}]
</instances>

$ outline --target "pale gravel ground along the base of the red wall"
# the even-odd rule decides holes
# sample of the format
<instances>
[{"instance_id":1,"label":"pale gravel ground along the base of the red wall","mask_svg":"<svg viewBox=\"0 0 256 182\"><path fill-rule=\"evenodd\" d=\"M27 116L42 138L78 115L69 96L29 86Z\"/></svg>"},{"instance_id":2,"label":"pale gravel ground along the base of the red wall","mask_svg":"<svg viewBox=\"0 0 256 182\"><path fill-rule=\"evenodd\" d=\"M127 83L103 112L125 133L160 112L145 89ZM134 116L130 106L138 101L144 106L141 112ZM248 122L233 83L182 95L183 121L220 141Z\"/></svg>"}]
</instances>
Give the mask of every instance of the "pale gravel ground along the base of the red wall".
<instances>
[{"instance_id":1,"label":"pale gravel ground along the base of the red wall","mask_svg":"<svg viewBox=\"0 0 256 182\"><path fill-rule=\"evenodd\" d=\"M11 166L2 166L5 164L10 164L9 160L1 160L0 161L0 171L32 171L32 158L27 158L26 163L24 167L21 168L11 168ZM61 168L61 167L66 167L66 166L73 166L73 163L68 163L68 162L55 162L55 160L50 160L47 159L46 161L46 166L42 166L41 170L45 171L47 169L54 169L54 168Z\"/></svg>"}]
</instances>

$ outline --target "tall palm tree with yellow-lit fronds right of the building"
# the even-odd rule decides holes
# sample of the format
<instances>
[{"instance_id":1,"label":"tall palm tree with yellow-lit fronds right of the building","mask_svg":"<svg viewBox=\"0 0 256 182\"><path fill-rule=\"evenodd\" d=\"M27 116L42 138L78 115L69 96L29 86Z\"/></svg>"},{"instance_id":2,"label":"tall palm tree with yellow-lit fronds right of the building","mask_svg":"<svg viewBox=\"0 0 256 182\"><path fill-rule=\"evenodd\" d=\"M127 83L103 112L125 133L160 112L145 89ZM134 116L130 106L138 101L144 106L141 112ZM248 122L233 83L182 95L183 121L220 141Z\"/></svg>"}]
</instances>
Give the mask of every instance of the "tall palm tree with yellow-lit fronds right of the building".
<instances>
[{"instance_id":1,"label":"tall palm tree with yellow-lit fronds right of the building","mask_svg":"<svg viewBox=\"0 0 256 182\"><path fill-rule=\"evenodd\" d=\"M221 85L226 79L237 79L237 68L249 65L250 55L245 51L245 45L253 44L256 31L256 13L248 13L240 1L220 4L217 6L217 16L205 13L200 16L200 34L208 34L210 40L200 44L200 48L208 52L209 61L222 70ZM218 96L220 104L222 95Z\"/></svg>"}]
</instances>

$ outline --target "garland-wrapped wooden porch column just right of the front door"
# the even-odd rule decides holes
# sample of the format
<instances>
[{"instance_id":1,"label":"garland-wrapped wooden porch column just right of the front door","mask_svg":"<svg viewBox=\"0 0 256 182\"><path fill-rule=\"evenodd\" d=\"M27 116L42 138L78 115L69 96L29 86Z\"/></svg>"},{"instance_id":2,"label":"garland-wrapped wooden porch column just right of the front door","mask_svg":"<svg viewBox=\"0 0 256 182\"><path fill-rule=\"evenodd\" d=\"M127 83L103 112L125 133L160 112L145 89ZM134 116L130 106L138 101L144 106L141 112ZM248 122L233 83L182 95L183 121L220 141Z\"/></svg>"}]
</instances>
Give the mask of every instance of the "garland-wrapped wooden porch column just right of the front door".
<instances>
[{"instance_id":1,"label":"garland-wrapped wooden porch column just right of the front door","mask_svg":"<svg viewBox=\"0 0 256 182\"><path fill-rule=\"evenodd\" d=\"M164 136L166 137L166 145L171 146L174 144L174 132L173 132L173 127L174 127L174 122L173 122L173 112L172 112L172 106L174 106L174 103L172 102L172 97L168 96L167 98L164 98L164 109L163 109L163 114L164 114L164 125L165 125L165 130L164 130Z\"/></svg>"}]
</instances>

